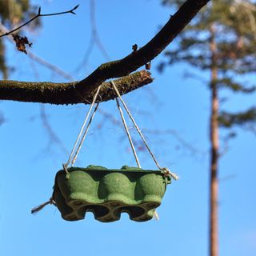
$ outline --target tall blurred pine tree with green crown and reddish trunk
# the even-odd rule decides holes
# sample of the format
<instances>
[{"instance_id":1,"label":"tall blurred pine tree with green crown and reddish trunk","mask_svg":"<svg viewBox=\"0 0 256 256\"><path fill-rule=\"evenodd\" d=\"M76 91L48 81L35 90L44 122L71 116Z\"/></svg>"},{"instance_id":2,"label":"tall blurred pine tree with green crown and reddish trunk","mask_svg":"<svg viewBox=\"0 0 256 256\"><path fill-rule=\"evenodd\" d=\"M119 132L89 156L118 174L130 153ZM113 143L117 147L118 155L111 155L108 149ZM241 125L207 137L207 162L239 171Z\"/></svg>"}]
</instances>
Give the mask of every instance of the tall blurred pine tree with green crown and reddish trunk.
<instances>
[{"instance_id":1,"label":"tall blurred pine tree with green crown and reddish trunk","mask_svg":"<svg viewBox=\"0 0 256 256\"><path fill-rule=\"evenodd\" d=\"M163 0L166 6L184 1ZM219 128L254 127L256 106L239 113L219 110L222 88L234 93L251 94L245 75L256 70L256 5L249 0L212 0L179 35L176 48L167 50L166 65L186 62L210 74L206 86L211 91L210 109L210 256L218 255L218 160ZM230 133L233 134L233 133Z\"/></svg>"}]
</instances>

